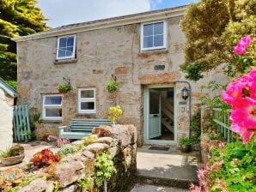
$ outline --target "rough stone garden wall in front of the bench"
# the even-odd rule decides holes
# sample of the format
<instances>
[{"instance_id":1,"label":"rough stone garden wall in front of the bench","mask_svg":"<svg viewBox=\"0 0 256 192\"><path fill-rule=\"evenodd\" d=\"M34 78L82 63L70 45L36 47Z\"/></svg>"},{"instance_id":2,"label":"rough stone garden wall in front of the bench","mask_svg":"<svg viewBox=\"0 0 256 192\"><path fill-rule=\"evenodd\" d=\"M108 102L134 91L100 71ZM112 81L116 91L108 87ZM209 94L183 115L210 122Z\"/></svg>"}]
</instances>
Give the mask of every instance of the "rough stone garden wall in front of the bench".
<instances>
[{"instance_id":1,"label":"rough stone garden wall in front of the bench","mask_svg":"<svg viewBox=\"0 0 256 192\"><path fill-rule=\"evenodd\" d=\"M99 189L95 185L93 189L81 190L77 180L91 181L94 178L96 156L106 150L112 155L117 170L107 183L107 191L129 191L137 171L137 129L133 125L101 126L95 128L93 134L98 135L101 129L105 130L105 136L82 147L78 153L67 154L62 163L40 169L36 173L39 178L18 191L103 191L103 187ZM81 143L82 141L75 142L76 145Z\"/></svg>"}]
</instances>

